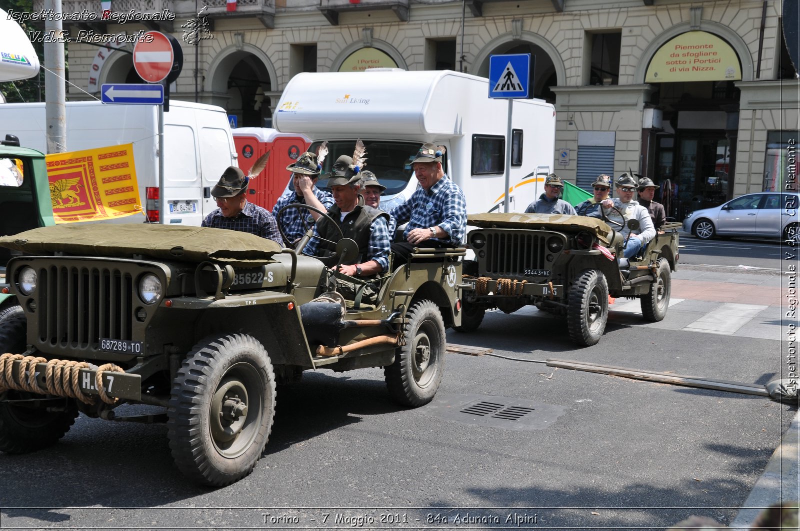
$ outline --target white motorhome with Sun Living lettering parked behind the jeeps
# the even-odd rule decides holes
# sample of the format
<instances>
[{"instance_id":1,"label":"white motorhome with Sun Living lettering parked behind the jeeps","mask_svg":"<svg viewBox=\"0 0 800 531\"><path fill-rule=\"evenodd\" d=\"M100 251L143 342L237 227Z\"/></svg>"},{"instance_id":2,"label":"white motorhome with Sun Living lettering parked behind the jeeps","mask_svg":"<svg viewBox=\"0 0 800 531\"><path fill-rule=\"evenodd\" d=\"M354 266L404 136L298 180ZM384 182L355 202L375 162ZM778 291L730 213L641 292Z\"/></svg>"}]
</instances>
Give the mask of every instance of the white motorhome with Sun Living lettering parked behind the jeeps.
<instances>
[{"instance_id":1,"label":"white motorhome with Sun Living lettering parked behind the jeeps","mask_svg":"<svg viewBox=\"0 0 800 531\"><path fill-rule=\"evenodd\" d=\"M522 212L541 193L555 154L555 110L537 99L514 101L510 208ZM424 142L446 147L446 173L464 190L471 213L503 210L508 103L489 98L489 81L451 70L303 73L291 79L274 126L329 142L323 172L366 145L366 170L387 186L390 210L417 186L410 161ZM291 184L291 183L290 183ZM324 182L321 183L324 186Z\"/></svg>"}]
</instances>

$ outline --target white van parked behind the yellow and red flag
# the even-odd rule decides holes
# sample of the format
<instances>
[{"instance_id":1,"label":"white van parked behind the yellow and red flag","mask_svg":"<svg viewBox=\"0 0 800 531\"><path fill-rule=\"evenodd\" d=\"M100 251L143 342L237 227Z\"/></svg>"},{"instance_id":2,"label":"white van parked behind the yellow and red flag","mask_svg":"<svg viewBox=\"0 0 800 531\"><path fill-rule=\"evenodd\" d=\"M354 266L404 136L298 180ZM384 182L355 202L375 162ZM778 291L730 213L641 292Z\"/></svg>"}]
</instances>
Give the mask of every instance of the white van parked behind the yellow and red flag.
<instances>
[{"instance_id":1,"label":"white van parked behind the yellow and red flag","mask_svg":"<svg viewBox=\"0 0 800 531\"><path fill-rule=\"evenodd\" d=\"M46 153L44 103L0 105L2 134L14 134L21 146ZM149 105L66 103L66 150L133 143L139 198L145 216L109 222L158 222L158 109ZM222 107L170 102L164 113L164 223L199 226L217 208L211 188L228 166L236 166L236 148Z\"/></svg>"}]
</instances>

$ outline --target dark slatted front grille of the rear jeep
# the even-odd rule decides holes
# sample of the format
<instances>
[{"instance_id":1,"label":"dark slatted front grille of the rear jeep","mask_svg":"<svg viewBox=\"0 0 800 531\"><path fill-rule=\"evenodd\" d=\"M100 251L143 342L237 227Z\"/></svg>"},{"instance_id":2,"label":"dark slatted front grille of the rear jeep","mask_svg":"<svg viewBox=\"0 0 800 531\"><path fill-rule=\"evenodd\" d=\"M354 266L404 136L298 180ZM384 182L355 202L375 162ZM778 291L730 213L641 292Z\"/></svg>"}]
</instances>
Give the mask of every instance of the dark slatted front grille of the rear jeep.
<instances>
[{"instance_id":1,"label":"dark slatted front grille of the rear jeep","mask_svg":"<svg viewBox=\"0 0 800 531\"><path fill-rule=\"evenodd\" d=\"M525 269L545 269L547 238L552 234L486 234L486 273L525 276Z\"/></svg>"}]
</instances>

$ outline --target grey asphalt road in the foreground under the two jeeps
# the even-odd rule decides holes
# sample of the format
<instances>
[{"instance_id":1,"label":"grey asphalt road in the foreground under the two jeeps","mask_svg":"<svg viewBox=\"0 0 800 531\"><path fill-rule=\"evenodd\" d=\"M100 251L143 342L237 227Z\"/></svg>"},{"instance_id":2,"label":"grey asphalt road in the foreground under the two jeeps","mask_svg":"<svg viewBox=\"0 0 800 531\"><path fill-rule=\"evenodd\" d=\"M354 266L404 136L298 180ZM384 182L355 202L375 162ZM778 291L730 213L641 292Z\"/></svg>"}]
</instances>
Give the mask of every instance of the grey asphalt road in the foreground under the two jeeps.
<instances>
[{"instance_id":1,"label":"grey asphalt road in the foreground under the two jeeps","mask_svg":"<svg viewBox=\"0 0 800 531\"><path fill-rule=\"evenodd\" d=\"M524 361L450 353L437 397L419 409L394 405L379 369L306 373L278 393L254 472L223 489L185 481L162 425L80 417L51 449L0 454L0 529L665 529L690 514L728 523L795 409L535 362L749 383L780 370L779 341L689 331L682 315L644 325L614 311L598 345L575 349L563 321L535 309L489 313L448 341ZM464 413L480 402L526 417Z\"/></svg>"}]
</instances>

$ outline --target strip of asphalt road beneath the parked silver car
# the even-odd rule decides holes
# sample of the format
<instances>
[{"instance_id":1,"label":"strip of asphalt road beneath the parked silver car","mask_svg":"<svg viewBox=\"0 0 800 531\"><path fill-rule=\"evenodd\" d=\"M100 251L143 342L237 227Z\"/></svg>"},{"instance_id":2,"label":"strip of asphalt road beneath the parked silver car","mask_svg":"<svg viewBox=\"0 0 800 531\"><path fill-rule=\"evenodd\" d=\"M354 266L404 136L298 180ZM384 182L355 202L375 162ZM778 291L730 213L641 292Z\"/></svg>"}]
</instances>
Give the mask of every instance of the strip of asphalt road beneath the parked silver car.
<instances>
[{"instance_id":1,"label":"strip of asphalt road beneath the parked silver car","mask_svg":"<svg viewBox=\"0 0 800 531\"><path fill-rule=\"evenodd\" d=\"M766 269L777 271L786 252L797 256L797 248L786 246L778 240L753 240L727 238L701 240L682 232L680 238L682 264L711 265L738 269Z\"/></svg>"}]
</instances>

